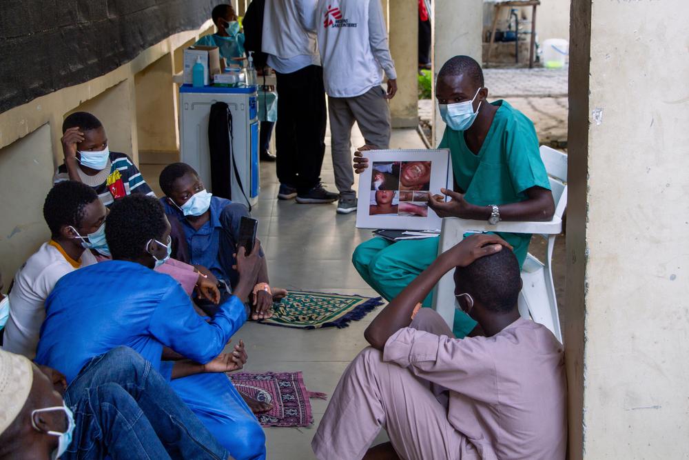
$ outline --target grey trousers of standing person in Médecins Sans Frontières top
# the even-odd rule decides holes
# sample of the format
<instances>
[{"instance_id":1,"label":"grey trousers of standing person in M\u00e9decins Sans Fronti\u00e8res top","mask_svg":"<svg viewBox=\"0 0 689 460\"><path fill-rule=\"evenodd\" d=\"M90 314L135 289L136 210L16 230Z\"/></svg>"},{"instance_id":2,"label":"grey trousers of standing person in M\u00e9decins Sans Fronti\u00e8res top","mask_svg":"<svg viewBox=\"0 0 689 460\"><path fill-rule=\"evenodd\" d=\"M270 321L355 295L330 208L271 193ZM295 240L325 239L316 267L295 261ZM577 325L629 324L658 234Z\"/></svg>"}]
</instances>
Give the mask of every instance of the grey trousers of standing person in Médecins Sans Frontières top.
<instances>
[{"instance_id":1,"label":"grey trousers of standing person in M\u00e9decins Sans Fronti\u00e8res top","mask_svg":"<svg viewBox=\"0 0 689 460\"><path fill-rule=\"evenodd\" d=\"M351 158L351 128L359 125L364 141L376 148L390 147L390 108L382 86L374 86L361 96L328 97L335 185L340 198L353 199L356 192ZM360 146L357 146L360 147Z\"/></svg>"}]
</instances>

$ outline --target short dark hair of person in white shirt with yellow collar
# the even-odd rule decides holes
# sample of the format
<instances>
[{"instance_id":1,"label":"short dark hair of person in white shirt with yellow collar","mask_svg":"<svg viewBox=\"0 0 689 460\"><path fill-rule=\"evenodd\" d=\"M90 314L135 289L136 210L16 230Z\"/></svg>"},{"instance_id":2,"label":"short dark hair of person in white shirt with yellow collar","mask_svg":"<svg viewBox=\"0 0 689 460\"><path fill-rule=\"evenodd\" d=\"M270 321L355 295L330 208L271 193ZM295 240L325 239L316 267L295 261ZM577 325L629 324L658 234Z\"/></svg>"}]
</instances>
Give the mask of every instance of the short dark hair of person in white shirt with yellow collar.
<instances>
[{"instance_id":1,"label":"short dark hair of person in white shirt with yellow collar","mask_svg":"<svg viewBox=\"0 0 689 460\"><path fill-rule=\"evenodd\" d=\"M59 238L60 229L64 226L81 227L86 206L97 199L96 191L85 183L77 181L56 183L43 203L43 219L45 223L48 223L52 238Z\"/></svg>"}]
</instances>

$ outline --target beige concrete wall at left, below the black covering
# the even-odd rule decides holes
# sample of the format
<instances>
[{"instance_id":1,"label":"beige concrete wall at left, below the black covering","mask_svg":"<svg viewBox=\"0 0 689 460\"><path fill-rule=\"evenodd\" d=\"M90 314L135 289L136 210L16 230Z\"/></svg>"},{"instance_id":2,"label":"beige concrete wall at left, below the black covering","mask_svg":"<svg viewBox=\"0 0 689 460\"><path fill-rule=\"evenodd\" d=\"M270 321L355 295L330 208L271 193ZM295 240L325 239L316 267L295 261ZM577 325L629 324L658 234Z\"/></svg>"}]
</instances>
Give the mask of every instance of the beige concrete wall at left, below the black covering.
<instances>
[{"instance_id":1,"label":"beige concrete wall at left, below the black covering","mask_svg":"<svg viewBox=\"0 0 689 460\"><path fill-rule=\"evenodd\" d=\"M196 41L198 34L205 30L212 30L210 20L199 30L168 37L101 77L45 94L0 113L0 196L3 197L0 204L3 216L0 219L0 270L5 275L6 287L21 263L49 237L43 221L43 201L52 186L55 168L63 162L60 137L65 114L75 110L93 112L103 121L112 150L125 152L137 161L139 132L136 127L144 127L141 137L147 145L157 145L149 136L164 132L169 141L169 123L177 118L170 113L171 101L165 103L160 112L152 100L145 103L144 90L153 85L146 76L154 72L161 79L167 79L161 74L162 67L172 70L172 55L180 56L179 48ZM143 84L138 91L137 81ZM139 116L137 94L144 98L138 103ZM158 91L150 95L161 97ZM172 88L168 97L174 101ZM138 123L144 116L143 123ZM154 126L155 123L160 126ZM166 145L172 146L172 143Z\"/></svg>"}]
</instances>

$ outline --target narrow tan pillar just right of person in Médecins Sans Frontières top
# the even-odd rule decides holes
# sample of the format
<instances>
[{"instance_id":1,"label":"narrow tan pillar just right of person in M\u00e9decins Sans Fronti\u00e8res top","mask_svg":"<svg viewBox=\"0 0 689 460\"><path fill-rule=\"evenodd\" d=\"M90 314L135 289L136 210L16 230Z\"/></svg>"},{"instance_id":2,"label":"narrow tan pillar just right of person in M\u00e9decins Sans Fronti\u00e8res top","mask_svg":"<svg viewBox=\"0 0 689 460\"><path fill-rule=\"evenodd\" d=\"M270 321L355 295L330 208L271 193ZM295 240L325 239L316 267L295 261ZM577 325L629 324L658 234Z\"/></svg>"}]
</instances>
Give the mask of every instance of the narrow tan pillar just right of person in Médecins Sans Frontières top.
<instances>
[{"instance_id":1,"label":"narrow tan pillar just right of person in M\u00e9decins Sans Fronti\u00e8res top","mask_svg":"<svg viewBox=\"0 0 689 460\"><path fill-rule=\"evenodd\" d=\"M378 0L375 0L378 1ZM390 101L393 128L419 124L418 1L390 0L390 54L397 71L397 95Z\"/></svg>"}]
</instances>

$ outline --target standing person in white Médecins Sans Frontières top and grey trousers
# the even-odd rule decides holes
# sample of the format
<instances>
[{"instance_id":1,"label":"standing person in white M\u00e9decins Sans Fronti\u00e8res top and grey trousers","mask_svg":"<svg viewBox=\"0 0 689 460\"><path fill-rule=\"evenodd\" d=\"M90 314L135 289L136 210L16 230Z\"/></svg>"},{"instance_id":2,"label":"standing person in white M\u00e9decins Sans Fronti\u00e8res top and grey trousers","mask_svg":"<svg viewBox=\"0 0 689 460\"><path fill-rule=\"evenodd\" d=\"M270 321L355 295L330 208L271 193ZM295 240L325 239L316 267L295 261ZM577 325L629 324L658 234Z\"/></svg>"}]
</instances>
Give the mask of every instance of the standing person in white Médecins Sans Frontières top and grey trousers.
<instances>
[{"instance_id":1,"label":"standing person in white M\u00e9decins Sans Fronti\u00e8res top and grey trousers","mask_svg":"<svg viewBox=\"0 0 689 460\"><path fill-rule=\"evenodd\" d=\"M397 92L397 74L380 0L319 0L315 19L340 192L337 212L348 214L356 211L351 128L356 121L368 146L389 148L387 101ZM383 74L387 91L381 86Z\"/></svg>"}]
</instances>

